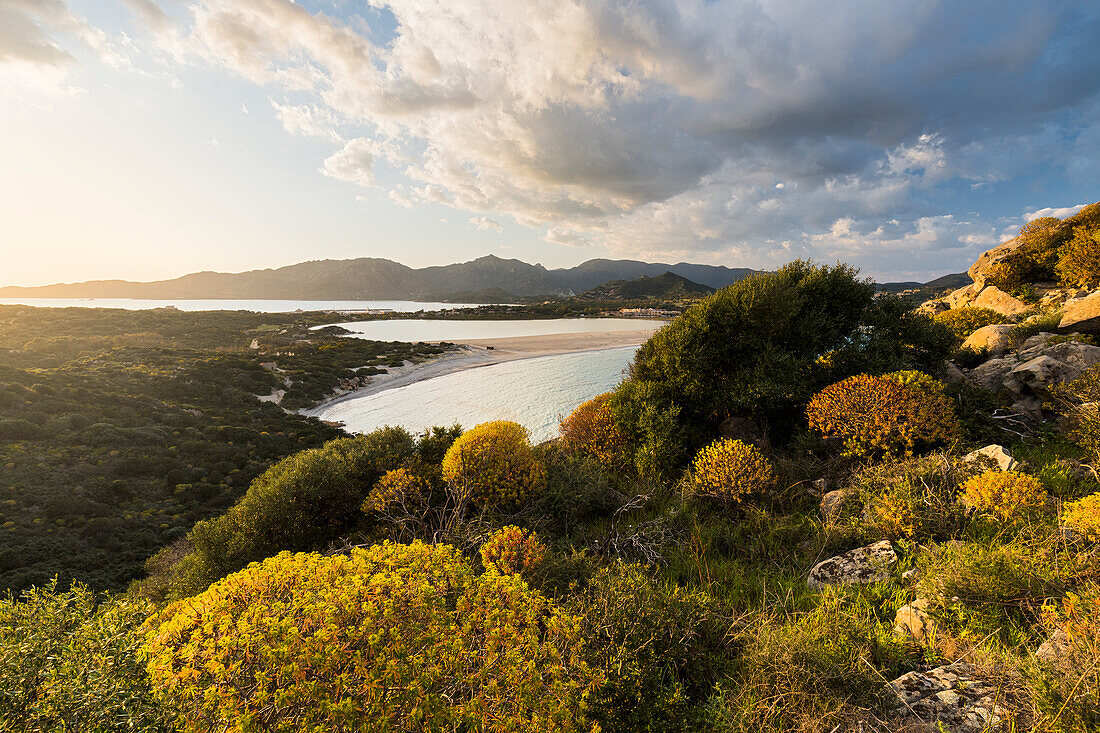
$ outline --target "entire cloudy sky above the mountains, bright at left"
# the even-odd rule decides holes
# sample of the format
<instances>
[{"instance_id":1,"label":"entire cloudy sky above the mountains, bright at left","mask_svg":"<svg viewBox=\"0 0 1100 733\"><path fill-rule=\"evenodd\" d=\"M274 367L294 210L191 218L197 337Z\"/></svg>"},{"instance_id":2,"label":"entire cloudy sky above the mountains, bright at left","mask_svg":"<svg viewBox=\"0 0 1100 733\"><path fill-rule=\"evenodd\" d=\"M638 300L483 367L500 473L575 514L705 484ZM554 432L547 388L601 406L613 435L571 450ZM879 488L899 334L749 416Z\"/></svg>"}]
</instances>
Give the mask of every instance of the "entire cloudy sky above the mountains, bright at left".
<instances>
[{"instance_id":1,"label":"entire cloudy sky above the mountains, bright at left","mask_svg":"<svg viewBox=\"0 0 1100 733\"><path fill-rule=\"evenodd\" d=\"M1100 6L0 0L0 285L484 254L960 272L1100 200Z\"/></svg>"}]
</instances>

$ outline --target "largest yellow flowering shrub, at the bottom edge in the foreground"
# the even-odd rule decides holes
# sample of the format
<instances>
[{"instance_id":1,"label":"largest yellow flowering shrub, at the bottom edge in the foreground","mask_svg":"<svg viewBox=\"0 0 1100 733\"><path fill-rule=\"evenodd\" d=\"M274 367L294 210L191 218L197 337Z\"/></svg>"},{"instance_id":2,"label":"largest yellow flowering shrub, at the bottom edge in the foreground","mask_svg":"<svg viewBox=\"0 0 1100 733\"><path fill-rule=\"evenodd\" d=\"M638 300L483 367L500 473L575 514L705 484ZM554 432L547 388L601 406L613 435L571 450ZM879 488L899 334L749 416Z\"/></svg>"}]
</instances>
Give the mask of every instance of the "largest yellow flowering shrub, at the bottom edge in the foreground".
<instances>
[{"instance_id":1,"label":"largest yellow flowering shrub, at the bottom edge in the foreground","mask_svg":"<svg viewBox=\"0 0 1100 733\"><path fill-rule=\"evenodd\" d=\"M579 621L450 546L283 553L144 626L183 733L580 731Z\"/></svg>"}]
</instances>

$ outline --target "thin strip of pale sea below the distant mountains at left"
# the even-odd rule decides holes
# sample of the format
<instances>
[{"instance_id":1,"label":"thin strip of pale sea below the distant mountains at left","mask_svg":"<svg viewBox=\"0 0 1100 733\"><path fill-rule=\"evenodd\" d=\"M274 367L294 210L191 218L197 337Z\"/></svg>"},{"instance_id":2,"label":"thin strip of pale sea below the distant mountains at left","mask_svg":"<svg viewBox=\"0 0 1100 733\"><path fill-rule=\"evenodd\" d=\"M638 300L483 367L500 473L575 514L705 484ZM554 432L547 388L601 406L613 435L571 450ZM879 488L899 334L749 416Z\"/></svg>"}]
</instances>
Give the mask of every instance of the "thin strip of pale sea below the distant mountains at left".
<instances>
[{"instance_id":1,"label":"thin strip of pale sea below the distant mountains at left","mask_svg":"<svg viewBox=\"0 0 1100 733\"><path fill-rule=\"evenodd\" d=\"M177 310L255 310L256 313L294 313L295 310L375 310L385 308L400 313L417 310L450 310L475 308L468 303L420 303L417 300L260 300L197 299L155 300L144 298L0 298L0 305L29 305L40 308L123 308L147 310L170 306Z\"/></svg>"}]
</instances>

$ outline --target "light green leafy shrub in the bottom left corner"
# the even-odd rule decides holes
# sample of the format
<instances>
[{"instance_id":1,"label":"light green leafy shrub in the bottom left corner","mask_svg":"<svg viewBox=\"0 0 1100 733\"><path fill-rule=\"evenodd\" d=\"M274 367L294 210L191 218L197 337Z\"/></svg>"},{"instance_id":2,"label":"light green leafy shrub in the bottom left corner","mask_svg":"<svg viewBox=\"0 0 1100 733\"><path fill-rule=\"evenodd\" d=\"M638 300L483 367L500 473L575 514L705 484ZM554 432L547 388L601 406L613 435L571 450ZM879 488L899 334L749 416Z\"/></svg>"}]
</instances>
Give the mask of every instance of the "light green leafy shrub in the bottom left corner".
<instances>
[{"instance_id":1,"label":"light green leafy shrub in the bottom left corner","mask_svg":"<svg viewBox=\"0 0 1100 733\"><path fill-rule=\"evenodd\" d=\"M56 582L0 601L0 730L167 733L140 661L147 603Z\"/></svg>"}]
</instances>

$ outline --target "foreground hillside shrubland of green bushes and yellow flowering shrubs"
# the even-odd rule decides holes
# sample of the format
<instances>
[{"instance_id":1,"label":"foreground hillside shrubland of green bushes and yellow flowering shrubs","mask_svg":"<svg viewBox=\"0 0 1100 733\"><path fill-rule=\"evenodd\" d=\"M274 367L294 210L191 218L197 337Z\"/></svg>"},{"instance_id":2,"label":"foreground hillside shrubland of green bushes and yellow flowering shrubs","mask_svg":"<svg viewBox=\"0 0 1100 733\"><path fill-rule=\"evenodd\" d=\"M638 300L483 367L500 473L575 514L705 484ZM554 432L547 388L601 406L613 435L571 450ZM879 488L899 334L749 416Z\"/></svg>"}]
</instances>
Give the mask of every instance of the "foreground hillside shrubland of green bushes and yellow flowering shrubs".
<instances>
[{"instance_id":1,"label":"foreground hillside shrubland of green bushes and yellow flowering shrubs","mask_svg":"<svg viewBox=\"0 0 1100 733\"><path fill-rule=\"evenodd\" d=\"M3 657L0 730L53 720L7 710L59 694L56 668L96 680L65 714L102 699L150 731L932 732L887 682L960 660L1005 730L1096 730L1100 369L1063 419L1005 430L944 373L956 335L872 289L800 262L721 291L560 440L302 446L127 595L0 606L28 650ZM1013 471L966 458L994 441ZM807 583L881 540L883 580ZM917 600L920 638L894 627Z\"/></svg>"}]
</instances>

